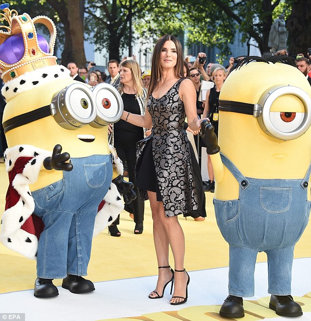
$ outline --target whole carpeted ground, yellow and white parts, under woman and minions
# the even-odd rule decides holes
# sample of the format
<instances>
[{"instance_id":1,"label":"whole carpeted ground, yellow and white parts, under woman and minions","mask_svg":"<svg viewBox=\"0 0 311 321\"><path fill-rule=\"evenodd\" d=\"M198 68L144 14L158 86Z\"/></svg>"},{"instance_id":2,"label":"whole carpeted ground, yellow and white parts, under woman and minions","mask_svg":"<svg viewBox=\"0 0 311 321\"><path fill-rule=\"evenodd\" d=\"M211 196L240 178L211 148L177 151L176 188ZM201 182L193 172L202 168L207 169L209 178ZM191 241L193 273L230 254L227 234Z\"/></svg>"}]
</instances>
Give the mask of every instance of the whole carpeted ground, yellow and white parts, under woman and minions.
<instances>
[{"instance_id":1,"label":"whole carpeted ground, yellow and white parts, under woman and minions","mask_svg":"<svg viewBox=\"0 0 311 321\"><path fill-rule=\"evenodd\" d=\"M0 164L0 211L4 211L8 185L4 164ZM148 294L156 285L157 264L152 237L152 217L146 202L144 232L134 235L134 222L121 214L120 238L104 230L93 241L88 278L96 291L71 294L54 280L59 296L38 299L33 296L35 261L0 244L0 318L24 321L227 321L219 308L228 295L228 244L223 240L214 216L213 194L206 192L207 219L195 222L180 217L186 239L185 267L191 277L188 301L169 304L166 291L160 300ZM292 291L302 305L301 321L311 320L311 224L295 247ZM302 258L297 260L297 258ZM259 253L255 270L255 295L244 300L243 321L281 321L268 308L266 256ZM173 265L172 255L170 260ZM29 290L29 291L25 291ZM16 319L19 317L19 319ZM6 318L6 319L5 319ZM15 318L15 319L14 319ZM230 319L233 320L233 319ZM271 321L272 321L271 320Z\"/></svg>"}]
</instances>

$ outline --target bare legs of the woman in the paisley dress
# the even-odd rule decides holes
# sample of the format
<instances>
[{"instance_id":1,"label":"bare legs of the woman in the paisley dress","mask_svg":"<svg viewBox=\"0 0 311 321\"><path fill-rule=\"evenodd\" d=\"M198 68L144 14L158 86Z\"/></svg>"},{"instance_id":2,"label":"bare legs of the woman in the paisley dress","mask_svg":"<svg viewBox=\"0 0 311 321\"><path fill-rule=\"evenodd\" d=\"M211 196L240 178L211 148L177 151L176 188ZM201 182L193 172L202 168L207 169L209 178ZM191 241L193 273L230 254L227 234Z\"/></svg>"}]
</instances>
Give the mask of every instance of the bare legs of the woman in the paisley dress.
<instances>
[{"instance_id":1,"label":"bare legs of the woman in the paisley dress","mask_svg":"<svg viewBox=\"0 0 311 321\"><path fill-rule=\"evenodd\" d=\"M168 245L171 245L175 269L183 270L185 242L184 235L179 224L177 216L165 217L164 207L162 202L156 201L156 193L148 191L150 206L154 221L154 242L156 248L156 258L159 267L169 265L168 260ZM159 269L159 277L156 284L156 291L160 292L165 283L171 279L169 269ZM175 288L173 296L186 296L186 284L188 275L184 272L175 273ZM157 291L158 292L158 291ZM158 292L159 293L159 292ZM153 292L152 292L153 294ZM153 296L151 294L151 296ZM154 294L156 296L156 294ZM159 293L162 295L162 293ZM171 299L171 303L183 301L182 298L176 297Z\"/></svg>"}]
</instances>

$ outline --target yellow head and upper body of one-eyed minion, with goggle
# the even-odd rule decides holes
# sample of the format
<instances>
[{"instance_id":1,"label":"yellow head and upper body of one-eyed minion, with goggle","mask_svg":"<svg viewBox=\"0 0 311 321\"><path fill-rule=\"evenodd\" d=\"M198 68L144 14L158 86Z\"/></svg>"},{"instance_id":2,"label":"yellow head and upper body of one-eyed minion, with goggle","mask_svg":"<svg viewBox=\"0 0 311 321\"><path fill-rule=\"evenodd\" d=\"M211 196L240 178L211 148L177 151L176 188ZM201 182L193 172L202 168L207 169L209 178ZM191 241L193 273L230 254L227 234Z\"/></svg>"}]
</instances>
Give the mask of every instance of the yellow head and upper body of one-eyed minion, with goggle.
<instances>
[{"instance_id":1,"label":"yellow head and upper body of one-eyed minion, with goggle","mask_svg":"<svg viewBox=\"0 0 311 321\"><path fill-rule=\"evenodd\" d=\"M246 58L225 80L218 144L245 176L303 178L311 160L311 86L289 58L277 59ZM219 162L213 166L217 172ZM215 197L238 197L227 168Z\"/></svg>"}]
</instances>

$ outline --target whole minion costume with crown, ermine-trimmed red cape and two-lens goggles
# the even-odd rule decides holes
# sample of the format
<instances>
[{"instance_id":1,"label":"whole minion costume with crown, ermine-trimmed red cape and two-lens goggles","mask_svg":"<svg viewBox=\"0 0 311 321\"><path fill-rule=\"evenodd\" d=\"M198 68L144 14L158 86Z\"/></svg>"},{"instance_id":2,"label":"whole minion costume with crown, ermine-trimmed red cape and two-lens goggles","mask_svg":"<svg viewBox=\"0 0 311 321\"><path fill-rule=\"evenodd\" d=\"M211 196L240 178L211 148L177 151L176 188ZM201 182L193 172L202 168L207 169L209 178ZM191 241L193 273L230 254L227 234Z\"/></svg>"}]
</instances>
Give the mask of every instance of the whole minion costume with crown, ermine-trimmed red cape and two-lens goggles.
<instances>
[{"instance_id":1,"label":"whole minion costume with crown, ermine-trimmed red cape and two-lens goggles","mask_svg":"<svg viewBox=\"0 0 311 321\"><path fill-rule=\"evenodd\" d=\"M82 277L92 237L124 208L120 194L126 203L136 196L108 145L106 125L121 118L122 100L112 86L74 81L57 64L51 19L31 19L8 6L0 6L9 25L0 31L0 68L10 184L0 239L37 259L34 296L58 295L54 278L63 278L62 287L72 293L94 291ZM48 28L49 44L36 24Z\"/></svg>"}]
</instances>

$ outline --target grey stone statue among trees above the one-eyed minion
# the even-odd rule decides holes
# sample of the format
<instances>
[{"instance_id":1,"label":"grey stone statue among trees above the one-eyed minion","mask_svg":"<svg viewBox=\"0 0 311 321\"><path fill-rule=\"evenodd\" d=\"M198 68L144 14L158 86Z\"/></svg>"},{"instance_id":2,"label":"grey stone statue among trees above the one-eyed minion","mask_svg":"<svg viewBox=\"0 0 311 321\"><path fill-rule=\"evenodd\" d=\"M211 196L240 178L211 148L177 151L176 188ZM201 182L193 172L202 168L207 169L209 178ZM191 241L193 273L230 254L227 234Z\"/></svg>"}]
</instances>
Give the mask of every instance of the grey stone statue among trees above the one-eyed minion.
<instances>
[{"instance_id":1,"label":"grey stone statue among trees above the one-eyed minion","mask_svg":"<svg viewBox=\"0 0 311 321\"><path fill-rule=\"evenodd\" d=\"M274 21L269 32L268 46L274 53L278 50L286 49L287 33L284 15L281 14Z\"/></svg>"}]
</instances>

